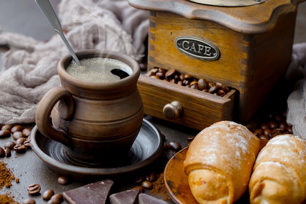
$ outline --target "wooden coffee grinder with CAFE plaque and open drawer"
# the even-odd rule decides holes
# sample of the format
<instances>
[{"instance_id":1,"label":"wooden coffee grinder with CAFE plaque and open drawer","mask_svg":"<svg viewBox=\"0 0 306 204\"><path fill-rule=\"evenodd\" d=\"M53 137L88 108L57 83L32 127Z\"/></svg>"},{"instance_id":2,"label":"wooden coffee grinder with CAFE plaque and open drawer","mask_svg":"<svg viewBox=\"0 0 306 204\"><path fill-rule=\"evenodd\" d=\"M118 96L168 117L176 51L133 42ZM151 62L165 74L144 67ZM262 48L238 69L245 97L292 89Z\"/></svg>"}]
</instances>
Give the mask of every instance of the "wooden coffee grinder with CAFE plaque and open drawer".
<instances>
[{"instance_id":1,"label":"wooden coffee grinder with CAFE plaque and open drawer","mask_svg":"<svg viewBox=\"0 0 306 204\"><path fill-rule=\"evenodd\" d=\"M221 97L142 75L145 114L198 130L233 118L248 123L291 61L303 1L129 0L150 11L149 71L175 68L235 90Z\"/></svg>"}]
</instances>

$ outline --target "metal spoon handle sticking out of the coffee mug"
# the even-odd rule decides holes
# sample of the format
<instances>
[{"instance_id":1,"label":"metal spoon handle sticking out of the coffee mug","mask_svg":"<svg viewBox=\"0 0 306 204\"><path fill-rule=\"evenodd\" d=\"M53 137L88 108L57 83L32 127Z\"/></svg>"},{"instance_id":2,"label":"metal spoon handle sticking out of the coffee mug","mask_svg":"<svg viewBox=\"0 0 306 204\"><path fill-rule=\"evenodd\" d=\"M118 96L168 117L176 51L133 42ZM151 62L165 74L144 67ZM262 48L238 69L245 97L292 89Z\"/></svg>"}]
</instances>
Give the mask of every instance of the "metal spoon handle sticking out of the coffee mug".
<instances>
[{"instance_id":1,"label":"metal spoon handle sticking out of the coffee mug","mask_svg":"<svg viewBox=\"0 0 306 204\"><path fill-rule=\"evenodd\" d=\"M52 28L58 32L58 34L61 36L62 40L64 41L66 47L68 48L72 58L74 61L78 64L78 66L82 66L78 57L75 55L74 51L72 50L71 46L69 45L68 41L66 40L66 37L62 31L62 25L59 21L59 19L56 16L56 13L54 12L52 5L50 4L49 0L35 0L39 8L44 14L44 17L47 19L47 21L50 23Z\"/></svg>"}]
</instances>

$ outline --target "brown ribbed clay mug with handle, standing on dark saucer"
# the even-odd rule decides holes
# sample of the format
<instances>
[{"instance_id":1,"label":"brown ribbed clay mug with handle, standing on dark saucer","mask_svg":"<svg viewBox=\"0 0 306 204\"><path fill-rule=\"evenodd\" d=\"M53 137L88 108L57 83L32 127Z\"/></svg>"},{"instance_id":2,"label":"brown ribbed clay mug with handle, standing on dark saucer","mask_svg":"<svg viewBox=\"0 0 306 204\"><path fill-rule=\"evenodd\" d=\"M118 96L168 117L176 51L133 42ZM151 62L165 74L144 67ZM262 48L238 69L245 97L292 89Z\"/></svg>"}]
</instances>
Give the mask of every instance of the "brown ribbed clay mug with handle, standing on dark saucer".
<instances>
[{"instance_id":1,"label":"brown ribbed clay mug with handle, standing on dark saucer","mask_svg":"<svg viewBox=\"0 0 306 204\"><path fill-rule=\"evenodd\" d=\"M81 80L66 71L72 61L67 55L57 67L60 86L47 91L38 105L37 128L62 143L67 158L77 165L120 165L143 121L137 89L139 65L115 51L84 50L76 54L80 61L96 57L119 60L128 65L131 74L114 82Z\"/></svg>"}]
</instances>

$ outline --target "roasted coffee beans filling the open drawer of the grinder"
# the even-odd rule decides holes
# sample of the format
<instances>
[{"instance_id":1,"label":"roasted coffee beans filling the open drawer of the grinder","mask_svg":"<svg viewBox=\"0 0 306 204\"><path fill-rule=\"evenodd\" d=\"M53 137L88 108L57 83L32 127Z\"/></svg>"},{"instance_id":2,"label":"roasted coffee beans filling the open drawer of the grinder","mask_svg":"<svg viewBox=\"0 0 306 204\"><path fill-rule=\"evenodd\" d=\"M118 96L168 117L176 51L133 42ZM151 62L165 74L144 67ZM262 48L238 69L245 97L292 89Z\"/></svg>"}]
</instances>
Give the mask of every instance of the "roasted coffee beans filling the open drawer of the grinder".
<instances>
[{"instance_id":1,"label":"roasted coffee beans filling the open drawer of the grinder","mask_svg":"<svg viewBox=\"0 0 306 204\"><path fill-rule=\"evenodd\" d=\"M204 78L197 79L190 74L181 74L176 69L153 68L146 75L219 96L224 96L231 90L219 82L209 82Z\"/></svg>"}]
</instances>

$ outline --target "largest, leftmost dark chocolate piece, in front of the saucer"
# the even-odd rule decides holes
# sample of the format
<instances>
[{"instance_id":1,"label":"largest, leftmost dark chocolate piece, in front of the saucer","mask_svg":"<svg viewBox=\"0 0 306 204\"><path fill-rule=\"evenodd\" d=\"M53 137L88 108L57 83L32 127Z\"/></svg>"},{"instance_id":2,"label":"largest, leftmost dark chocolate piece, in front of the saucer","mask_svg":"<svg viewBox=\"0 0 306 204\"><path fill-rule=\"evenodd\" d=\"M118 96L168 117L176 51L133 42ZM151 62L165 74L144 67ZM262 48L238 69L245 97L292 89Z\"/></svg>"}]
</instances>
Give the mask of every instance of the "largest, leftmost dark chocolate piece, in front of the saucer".
<instances>
[{"instance_id":1,"label":"largest, leftmost dark chocolate piece, in front of the saucer","mask_svg":"<svg viewBox=\"0 0 306 204\"><path fill-rule=\"evenodd\" d=\"M90 183L63 193L67 204L105 204L113 181Z\"/></svg>"}]
</instances>

